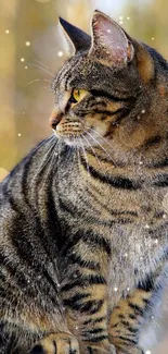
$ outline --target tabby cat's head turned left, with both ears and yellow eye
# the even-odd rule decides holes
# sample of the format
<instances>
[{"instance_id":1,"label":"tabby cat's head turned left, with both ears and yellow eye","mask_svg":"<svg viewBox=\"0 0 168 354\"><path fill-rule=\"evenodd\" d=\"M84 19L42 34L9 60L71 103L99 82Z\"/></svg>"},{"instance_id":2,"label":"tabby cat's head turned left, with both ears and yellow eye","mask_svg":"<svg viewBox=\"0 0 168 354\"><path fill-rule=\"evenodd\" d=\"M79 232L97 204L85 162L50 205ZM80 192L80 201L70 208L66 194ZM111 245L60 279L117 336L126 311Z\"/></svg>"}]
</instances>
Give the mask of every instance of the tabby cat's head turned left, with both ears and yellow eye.
<instances>
[{"instance_id":1,"label":"tabby cat's head turned left, with both ears and yellow eye","mask_svg":"<svg viewBox=\"0 0 168 354\"><path fill-rule=\"evenodd\" d=\"M166 119L167 63L100 11L91 36L60 20L69 59L53 81L50 125L68 145L139 148Z\"/></svg>"}]
</instances>

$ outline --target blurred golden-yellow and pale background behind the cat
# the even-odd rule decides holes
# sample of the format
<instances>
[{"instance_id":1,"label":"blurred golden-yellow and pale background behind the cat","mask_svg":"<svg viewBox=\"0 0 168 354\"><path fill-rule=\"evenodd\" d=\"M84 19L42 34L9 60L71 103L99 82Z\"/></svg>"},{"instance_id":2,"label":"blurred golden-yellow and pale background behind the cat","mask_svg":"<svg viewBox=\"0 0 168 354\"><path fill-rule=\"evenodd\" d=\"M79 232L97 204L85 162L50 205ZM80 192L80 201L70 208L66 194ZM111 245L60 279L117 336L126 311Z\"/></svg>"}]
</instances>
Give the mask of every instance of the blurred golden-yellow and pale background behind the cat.
<instances>
[{"instance_id":1,"label":"blurred golden-yellow and pale background behind the cat","mask_svg":"<svg viewBox=\"0 0 168 354\"><path fill-rule=\"evenodd\" d=\"M1 0L0 4L0 180L51 134L50 85L65 59L59 15L89 33L93 10L102 10L168 59L167 0ZM166 339L152 353L167 354Z\"/></svg>"}]
</instances>

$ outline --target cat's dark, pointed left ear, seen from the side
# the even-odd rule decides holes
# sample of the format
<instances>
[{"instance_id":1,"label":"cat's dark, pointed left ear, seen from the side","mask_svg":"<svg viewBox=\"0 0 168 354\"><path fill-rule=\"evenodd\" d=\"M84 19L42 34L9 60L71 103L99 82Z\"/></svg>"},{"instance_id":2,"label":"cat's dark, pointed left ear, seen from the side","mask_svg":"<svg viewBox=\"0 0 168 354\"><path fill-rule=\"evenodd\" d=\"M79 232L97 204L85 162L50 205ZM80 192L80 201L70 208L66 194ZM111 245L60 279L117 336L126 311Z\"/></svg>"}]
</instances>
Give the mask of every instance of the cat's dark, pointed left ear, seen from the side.
<instances>
[{"instance_id":1,"label":"cat's dark, pointed left ear, seen from the side","mask_svg":"<svg viewBox=\"0 0 168 354\"><path fill-rule=\"evenodd\" d=\"M91 37L83 30L72 25L64 19L60 17L60 25L67 45L67 51L73 57L77 51L88 50L91 46Z\"/></svg>"}]
</instances>

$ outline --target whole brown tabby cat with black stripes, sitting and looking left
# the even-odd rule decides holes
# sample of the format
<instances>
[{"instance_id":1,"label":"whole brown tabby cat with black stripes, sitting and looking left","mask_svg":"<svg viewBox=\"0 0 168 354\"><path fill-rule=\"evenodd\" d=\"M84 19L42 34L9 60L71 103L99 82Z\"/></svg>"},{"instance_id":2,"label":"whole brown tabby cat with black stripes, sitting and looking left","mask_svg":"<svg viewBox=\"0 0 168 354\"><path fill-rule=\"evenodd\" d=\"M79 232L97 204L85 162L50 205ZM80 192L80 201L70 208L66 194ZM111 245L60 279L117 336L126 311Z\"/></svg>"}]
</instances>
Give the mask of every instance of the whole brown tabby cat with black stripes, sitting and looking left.
<instances>
[{"instance_id":1,"label":"whole brown tabby cat with black stripes, sitting and looking left","mask_svg":"<svg viewBox=\"0 0 168 354\"><path fill-rule=\"evenodd\" d=\"M100 11L91 37L60 22L54 134L0 185L0 353L142 354L168 274L168 64Z\"/></svg>"}]
</instances>

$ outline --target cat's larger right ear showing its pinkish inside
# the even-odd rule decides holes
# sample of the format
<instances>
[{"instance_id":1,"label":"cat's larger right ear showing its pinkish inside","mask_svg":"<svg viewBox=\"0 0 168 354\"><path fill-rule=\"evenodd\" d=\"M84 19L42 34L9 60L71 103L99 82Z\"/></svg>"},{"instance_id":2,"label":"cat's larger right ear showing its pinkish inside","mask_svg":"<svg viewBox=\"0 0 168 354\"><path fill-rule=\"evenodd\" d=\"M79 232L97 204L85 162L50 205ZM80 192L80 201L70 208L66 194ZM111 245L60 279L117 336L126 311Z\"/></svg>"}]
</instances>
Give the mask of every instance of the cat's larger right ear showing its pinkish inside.
<instances>
[{"instance_id":1,"label":"cat's larger right ear showing its pinkish inside","mask_svg":"<svg viewBox=\"0 0 168 354\"><path fill-rule=\"evenodd\" d=\"M92 46L89 52L108 66L125 66L133 59L134 49L124 29L95 10L92 16Z\"/></svg>"}]
</instances>

